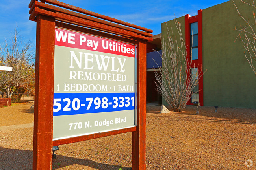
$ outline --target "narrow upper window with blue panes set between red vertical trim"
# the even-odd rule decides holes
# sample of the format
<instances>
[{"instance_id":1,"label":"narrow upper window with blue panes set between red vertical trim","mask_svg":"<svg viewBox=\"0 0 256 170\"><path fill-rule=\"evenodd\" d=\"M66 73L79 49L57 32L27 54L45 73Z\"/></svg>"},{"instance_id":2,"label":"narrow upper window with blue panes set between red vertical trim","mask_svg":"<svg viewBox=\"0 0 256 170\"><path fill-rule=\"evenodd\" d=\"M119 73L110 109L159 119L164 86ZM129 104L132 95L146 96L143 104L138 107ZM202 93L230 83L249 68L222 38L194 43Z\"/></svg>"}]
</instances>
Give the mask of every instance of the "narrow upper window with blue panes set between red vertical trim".
<instances>
[{"instance_id":1,"label":"narrow upper window with blue panes set between red vertical trim","mask_svg":"<svg viewBox=\"0 0 256 170\"><path fill-rule=\"evenodd\" d=\"M198 59L198 29L197 22L190 24L190 44L192 60Z\"/></svg>"}]
</instances>

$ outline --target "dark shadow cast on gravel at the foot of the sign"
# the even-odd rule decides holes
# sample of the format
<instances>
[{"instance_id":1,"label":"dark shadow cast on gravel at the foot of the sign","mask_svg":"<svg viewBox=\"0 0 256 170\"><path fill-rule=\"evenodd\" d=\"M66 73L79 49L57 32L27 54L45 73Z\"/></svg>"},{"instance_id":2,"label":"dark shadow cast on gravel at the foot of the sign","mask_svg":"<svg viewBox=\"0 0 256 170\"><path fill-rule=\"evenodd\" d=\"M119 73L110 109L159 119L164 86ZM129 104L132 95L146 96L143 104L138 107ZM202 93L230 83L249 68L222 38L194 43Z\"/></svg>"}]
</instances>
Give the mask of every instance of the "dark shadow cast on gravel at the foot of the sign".
<instances>
[{"instance_id":1,"label":"dark shadow cast on gravel at the foot of the sign","mask_svg":"<svg viewBox=\"0 0 256 170\"><path fill-rule=\"evenodd\" d=\"M0 146L0 170L32 170L33 151L8 149ZM96 170L132 170L130 167L120 167L119 165L109 165L98 163L89 159L79 159L57 154L57 159L53 160L52 169L61 169L73 164L95 168ZM86 167L83 167L86 168Z\"/></svg>"}]
</instances>

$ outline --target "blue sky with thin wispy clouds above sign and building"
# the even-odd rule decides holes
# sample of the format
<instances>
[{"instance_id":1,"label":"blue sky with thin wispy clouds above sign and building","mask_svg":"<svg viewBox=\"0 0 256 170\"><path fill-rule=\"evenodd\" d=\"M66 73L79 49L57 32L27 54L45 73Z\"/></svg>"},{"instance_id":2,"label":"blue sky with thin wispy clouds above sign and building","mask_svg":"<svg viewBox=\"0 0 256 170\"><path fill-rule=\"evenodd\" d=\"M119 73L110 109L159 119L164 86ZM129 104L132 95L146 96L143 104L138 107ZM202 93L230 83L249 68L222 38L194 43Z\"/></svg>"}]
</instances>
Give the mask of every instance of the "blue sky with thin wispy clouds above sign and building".
<instances>
[{"instance_id":1,"label":"blue sky with thin wispy clouds above sign and building","mask_svg":"<svg viewBox=\"0 0 256 170\"><path fill-rule=\"evenodd\" d=\"M161 33L161 23L176 17L197 15L199 9L206 9L227 0L60 0L89 11L107 15L119 20ZM0 0L0 44L11 37L15 26L23 41L35 44L36 22L28 20L30 0Z\"/></svg>"}]
</instances>

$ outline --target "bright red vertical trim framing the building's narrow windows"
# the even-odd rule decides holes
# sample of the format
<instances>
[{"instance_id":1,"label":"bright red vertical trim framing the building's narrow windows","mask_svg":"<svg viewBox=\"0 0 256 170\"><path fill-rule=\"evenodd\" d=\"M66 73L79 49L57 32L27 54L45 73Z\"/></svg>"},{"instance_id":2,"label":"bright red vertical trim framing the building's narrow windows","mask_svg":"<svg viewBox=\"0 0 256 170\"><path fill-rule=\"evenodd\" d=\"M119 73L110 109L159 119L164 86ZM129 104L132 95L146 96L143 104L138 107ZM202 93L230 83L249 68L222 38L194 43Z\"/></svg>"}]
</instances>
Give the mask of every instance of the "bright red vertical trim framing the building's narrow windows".
<instances>
[{"instance_id":1,"label":"bright red vertical trim framing the building's narrow windows","mask_svg":"<svg viewBox=\"0 0 256 170\"><path fill-rule=\"evenodd\" d=\"M190 49L190 24L193 22L197 22L198 26L198 60L191 60L191 49ZM192 64L193 67L198 67L198 71L202 72L202 10L197 11L197 15L189 17L189 15L185 15L185 44L186 44L186 58ZM190 75L189 73L187 73ZM187 79L189 76L187 76ZM203 76L199 79L199 102L200 105L204 105L204 92L203 92ZM191 100L187 102L188 105L193 105Z\"/></svg>"}]
</instances>

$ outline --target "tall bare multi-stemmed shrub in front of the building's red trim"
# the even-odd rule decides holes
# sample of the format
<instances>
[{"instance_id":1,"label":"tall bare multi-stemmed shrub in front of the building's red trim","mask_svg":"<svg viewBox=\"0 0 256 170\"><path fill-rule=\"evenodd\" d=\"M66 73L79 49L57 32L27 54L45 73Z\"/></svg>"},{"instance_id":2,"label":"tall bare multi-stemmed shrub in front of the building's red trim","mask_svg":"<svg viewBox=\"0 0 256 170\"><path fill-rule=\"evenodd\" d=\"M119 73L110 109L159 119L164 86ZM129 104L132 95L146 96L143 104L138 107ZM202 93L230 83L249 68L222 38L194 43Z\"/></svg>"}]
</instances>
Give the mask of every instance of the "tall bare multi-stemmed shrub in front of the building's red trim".
<instances>
[{"instance_id":1,"label":"tall bare multi-stemmed shrub in front of the building's red trim","mask_svg":"<svg viewBox=\"0 0 256 170\"><path fill-rule=\"evenodd\" d=\"M191 98L192 91L203 73L197 72L191 76L192 64L186 58L186 46L182 37L181 24L176 19L175 24L178 35L173 33L172 27L170 35L167 27L167 37L161 40L162 70L160 74L155 71L155 77L157 80L156 90L174 112L181 112L185 109L187 101ZM195 77L198 78L195 79Z\"/></svg>"}]
</instances>

